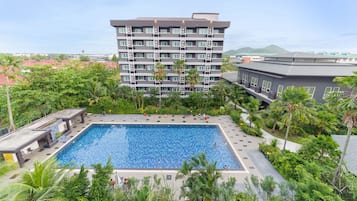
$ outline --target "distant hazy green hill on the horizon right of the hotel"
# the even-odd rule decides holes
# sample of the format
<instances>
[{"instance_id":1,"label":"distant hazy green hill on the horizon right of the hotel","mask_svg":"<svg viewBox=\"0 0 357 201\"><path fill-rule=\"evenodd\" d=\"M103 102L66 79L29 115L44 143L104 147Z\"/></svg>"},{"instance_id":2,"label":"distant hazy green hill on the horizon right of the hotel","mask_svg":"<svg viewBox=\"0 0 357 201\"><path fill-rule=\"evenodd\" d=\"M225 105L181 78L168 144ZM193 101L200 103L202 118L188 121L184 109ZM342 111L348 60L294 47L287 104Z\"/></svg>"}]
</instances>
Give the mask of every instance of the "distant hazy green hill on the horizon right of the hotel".
<instances>
[{"instance_id":1,"label":"distant hazy green hill on the horizon right of the hotel","mask_svg":"<svg viewBox=\"0 0 357 201\"><path fill-rule=\"evenodd\" d=\"M269 45L263 48L251 48L243 47L237 50L228 50L224 52L224 56L233 56L233 55L272 55L272 54L283 54L288 53L288 50L285 50L277 45Z\"/></svg>"}]
</instances>

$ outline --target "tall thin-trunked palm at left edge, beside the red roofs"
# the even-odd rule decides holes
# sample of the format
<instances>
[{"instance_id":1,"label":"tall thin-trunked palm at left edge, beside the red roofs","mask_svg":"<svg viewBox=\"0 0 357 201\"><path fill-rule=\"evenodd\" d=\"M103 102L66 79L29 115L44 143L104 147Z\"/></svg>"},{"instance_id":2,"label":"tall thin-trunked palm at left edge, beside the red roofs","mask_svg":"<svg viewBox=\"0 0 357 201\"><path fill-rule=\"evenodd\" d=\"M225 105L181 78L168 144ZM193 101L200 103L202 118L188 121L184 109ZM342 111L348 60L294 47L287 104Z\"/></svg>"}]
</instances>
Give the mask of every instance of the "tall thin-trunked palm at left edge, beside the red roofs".
<instances>
[{"instance_id":1,"label":"tall thin-trunked palm at left edge, beside the red roofs","mask_svg":"<svg viewBox=\"0 0 357 201\"><path fill-rule=\"evenodd\" d=\"M17 68L20 67L20 61L13 56L4 56L0 61L0 67L2 67L2 73L6 76L6 102L7 102L7 111L9 115L10 131L16 129L14 118L12 115L11 101L10 101L10 79L14 80L16 78Z\"/></svg>"}]
</instances>

